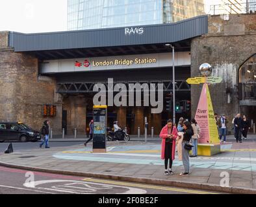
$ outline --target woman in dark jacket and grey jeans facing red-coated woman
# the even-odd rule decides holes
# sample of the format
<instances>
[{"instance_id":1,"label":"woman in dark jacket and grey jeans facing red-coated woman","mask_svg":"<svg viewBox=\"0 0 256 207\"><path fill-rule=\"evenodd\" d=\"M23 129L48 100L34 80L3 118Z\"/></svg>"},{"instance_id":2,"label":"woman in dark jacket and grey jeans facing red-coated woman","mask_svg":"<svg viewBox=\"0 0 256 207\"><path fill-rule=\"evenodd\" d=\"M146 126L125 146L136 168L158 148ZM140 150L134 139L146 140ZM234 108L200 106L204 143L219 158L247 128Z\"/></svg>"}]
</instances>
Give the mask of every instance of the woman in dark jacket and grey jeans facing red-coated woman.
<instances>
[{"instance_id":1,"label":"woman in dark jacket and grey jeans facing red-coated woman","mask_svg":"<svg viewBox=\"0 0 256 207\"><path fill-rule=\"evenodd\" d=\"M182 147L182 162L183 162L183 166L185 171L183 173L180 173L179 175L183 176L183 175L188 175L189 174L189 151L187 149L187 145L190 145L189 142L192 138L192 136L194 135L194 131L192 129L192 126L190 124L190 122L185 121L183 122L183 147Z\"/></svg>"}]
</instances>

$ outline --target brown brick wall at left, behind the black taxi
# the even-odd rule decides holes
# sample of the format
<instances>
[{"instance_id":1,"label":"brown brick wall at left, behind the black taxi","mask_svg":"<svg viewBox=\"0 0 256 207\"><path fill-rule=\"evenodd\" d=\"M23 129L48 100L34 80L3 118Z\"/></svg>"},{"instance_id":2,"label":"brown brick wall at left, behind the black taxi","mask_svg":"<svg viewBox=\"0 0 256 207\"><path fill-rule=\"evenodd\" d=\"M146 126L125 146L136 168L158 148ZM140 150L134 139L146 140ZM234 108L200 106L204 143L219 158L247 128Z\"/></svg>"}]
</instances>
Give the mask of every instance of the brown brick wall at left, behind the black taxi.
<instances>
[{"instance_id":1,"label":"brown brick wall at left, behind the black taxi","mask_svg":"<svg viewBox=\"0 0 256 207\"><path fill-rule=\"evenodd\" d=\"M0 39L5 32L0 32ZM28 54L12 52L0 41L0 121L24 122L39 130L50 120L55 134L61 133L62 103L55 93L54 78L38 77L38 60ZM43 104L57 105L57 116L42 116Z\"/></svg>"}]
</instances>

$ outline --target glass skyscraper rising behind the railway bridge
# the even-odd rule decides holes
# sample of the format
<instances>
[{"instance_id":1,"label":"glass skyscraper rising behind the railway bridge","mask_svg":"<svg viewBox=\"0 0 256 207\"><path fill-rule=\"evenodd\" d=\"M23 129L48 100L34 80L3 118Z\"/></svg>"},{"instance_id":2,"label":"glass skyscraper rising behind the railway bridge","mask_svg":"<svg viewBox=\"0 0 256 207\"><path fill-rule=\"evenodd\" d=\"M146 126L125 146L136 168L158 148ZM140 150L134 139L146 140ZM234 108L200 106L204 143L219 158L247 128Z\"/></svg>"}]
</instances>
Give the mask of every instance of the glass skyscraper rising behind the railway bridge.
<instances>
[{"instance_id":1,"label":"glass skyscraper rising behind the railway bridge","mask_svg":"<svg viewBox=\"0 0 256 207\"><path fill-rule=\"evenodd\" d=\"M202 14L203 0L68 0L68 30L172 23Z\"/></svg>"}]
</instances>

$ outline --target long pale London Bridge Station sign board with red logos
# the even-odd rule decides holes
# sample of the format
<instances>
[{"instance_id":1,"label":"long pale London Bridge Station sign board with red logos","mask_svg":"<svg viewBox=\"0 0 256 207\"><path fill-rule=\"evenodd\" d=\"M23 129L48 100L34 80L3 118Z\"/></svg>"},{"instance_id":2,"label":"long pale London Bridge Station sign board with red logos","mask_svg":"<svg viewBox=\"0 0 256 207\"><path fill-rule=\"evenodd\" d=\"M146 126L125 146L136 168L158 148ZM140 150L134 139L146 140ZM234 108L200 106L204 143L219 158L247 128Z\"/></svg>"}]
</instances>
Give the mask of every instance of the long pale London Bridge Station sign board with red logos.
<instances>
[{"instance_id":1,"label":"long pale London Bridge Station sign board with red logos","mask_svg":"<svg viewBox=\"0 0 256 207\"><path fill-rule=\"evenodd\" d=\"M88 72L151 67L172 67L172 53L140 54L132 56L109 56L49 60L41 63L41 73ZM190 65L189 52L176 52L175 65Z\"/></svg>"}]
</instances>

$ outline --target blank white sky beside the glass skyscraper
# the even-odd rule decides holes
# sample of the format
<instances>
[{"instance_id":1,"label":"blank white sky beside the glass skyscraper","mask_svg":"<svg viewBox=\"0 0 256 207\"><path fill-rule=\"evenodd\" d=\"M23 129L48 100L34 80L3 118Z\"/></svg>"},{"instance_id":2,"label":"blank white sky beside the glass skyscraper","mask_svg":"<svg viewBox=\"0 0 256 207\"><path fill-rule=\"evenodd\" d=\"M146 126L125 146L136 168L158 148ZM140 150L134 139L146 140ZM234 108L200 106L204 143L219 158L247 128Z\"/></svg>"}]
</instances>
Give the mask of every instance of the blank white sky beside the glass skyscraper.
<instances>
[{"instance_id":1,"label":"blank white sky beside the glass skyscraper","mask_svg":"<svg viewBox=\"0 0 256 207\"><path fill-rule=\"evenodd\" d=\"M122 0L120 0L122 1ZM209 5L220 0L205 0ZM67 0L0 0L0 31L23 33L67 30Z\"/></svg>"}]
</instances>

